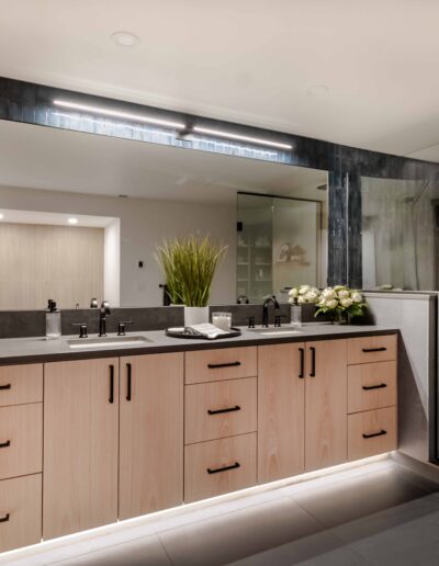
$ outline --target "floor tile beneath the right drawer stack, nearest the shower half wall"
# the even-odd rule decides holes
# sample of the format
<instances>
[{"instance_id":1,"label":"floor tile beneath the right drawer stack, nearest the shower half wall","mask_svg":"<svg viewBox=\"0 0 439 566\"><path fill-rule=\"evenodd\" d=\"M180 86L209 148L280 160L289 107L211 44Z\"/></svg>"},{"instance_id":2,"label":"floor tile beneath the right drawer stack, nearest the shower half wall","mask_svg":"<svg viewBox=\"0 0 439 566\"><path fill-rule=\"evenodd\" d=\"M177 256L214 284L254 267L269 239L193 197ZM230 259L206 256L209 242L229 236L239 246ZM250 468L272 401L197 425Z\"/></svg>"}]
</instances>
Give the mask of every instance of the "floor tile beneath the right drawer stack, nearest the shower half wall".
<instances>
[{"instance_id":1,"label":"floor tile beneath the right drawer stack, nearest the shower half wall","mask_svg":"<svg viewBox=\"0 0 439 566\"><path fill-rule=\"evenodd\" d=\"M294 494L291 497L326 527L334 528L384 509L420 499L431 493L403 468L376 472L342 484Z\"/></svg>"}]
</instances>

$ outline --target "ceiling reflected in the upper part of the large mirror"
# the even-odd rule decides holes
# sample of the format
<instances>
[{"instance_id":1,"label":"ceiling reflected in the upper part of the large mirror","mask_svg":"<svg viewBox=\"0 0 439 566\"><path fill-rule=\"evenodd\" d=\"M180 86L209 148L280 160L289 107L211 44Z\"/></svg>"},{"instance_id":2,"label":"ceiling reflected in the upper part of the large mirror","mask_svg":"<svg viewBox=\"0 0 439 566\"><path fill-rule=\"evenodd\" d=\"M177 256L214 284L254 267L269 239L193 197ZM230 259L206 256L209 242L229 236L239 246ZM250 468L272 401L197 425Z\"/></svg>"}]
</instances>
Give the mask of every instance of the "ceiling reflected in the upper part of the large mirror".
<instances>
[{"instance_id":1,"label":"ceiling reflected in the upper part of the large mirror","mask_svg":"<svg viewBox=\"0 0 439 566\"><path fill-rule=\"evenodd\" d=\"M0 120L4 186L236 205L237 191L320 200L326 182L326 171Z\"/></svg>"}]
</instances>

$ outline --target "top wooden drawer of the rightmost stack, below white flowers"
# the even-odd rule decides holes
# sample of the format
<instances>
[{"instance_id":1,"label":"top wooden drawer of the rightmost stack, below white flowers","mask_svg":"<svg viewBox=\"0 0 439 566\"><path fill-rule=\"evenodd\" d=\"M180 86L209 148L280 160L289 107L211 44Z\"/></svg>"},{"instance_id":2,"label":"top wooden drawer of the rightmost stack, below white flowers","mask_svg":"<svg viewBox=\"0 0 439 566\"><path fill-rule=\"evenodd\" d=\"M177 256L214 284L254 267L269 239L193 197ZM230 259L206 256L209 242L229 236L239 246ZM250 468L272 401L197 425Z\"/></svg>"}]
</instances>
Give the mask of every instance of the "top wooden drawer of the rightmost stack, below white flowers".
<instances>
[{"instance_id":1,"label":"top wooden drawer of the rightmost stack, below white flowers","mask_svg":"<svg viewBox=\"0 0 439 566\"><path fill-rule=\"evenodd\" d=\"M396 335L350 338L348 364L396 360Z\"/></svg>"}]
</instances>

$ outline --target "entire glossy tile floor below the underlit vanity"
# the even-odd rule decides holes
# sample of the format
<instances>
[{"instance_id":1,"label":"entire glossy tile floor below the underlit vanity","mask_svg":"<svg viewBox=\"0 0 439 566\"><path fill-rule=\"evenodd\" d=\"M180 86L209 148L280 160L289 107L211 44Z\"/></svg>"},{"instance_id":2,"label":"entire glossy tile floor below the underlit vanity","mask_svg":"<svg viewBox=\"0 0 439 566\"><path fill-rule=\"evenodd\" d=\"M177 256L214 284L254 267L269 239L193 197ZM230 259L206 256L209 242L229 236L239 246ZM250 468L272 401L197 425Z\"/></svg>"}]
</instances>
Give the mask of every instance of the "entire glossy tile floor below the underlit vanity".
<instances>
[{"instance_id":1,"label":"entire glossy tile floor below the underlit vanity","mask_svg":"<svg viewBox=\"0 0 439 566\"><path fill-rule=\"evenodd\" d=\"M379 460L50 541L0 564L439 565L439 485Z\"/></svg>"}]
</instances>

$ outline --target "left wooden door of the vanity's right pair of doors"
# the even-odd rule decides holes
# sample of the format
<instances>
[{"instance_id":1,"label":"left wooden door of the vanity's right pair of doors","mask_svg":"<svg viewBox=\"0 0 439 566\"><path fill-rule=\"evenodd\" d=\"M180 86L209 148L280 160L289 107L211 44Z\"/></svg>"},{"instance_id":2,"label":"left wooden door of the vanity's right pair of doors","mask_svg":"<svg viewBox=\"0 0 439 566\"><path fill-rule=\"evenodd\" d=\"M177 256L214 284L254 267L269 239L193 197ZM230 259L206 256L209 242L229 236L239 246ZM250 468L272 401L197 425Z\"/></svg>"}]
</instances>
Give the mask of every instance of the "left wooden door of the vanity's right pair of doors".
<instances>
[{"instance_id":1,"label":"left wooden door of the vanity's right pair of doors","mask_svg":"<svg viewBox=\"0 0 439 566\"><path fill-rule=\"evenodd\" d=\"M303 343L258 348L258 482L304 471Z\"/></svg>"}]
</instances>

